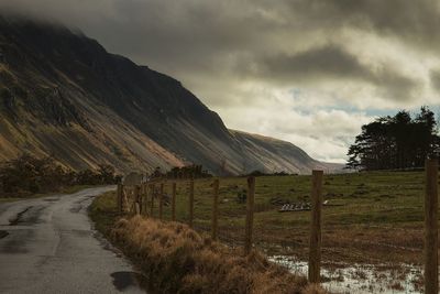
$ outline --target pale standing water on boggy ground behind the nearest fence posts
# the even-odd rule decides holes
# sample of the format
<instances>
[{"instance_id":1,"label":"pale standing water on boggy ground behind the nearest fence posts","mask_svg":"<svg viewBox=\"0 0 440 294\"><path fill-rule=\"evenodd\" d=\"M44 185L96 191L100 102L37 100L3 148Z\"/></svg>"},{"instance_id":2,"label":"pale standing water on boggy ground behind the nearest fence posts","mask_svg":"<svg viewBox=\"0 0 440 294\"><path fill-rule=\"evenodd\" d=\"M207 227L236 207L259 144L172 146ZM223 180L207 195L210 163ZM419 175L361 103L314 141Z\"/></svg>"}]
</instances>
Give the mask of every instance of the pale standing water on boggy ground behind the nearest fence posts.
<instances>
[{"instance_id":1,"label":"pale standing water on boggy ground behind the nearest fence posts","mask_svg":"<svg viewBox=\"0 0 440 294\"><path fill-rule=\"evenodd\" d=\"M270 260L290 272L307 275L307 262L274 255ZM422 293L422 269L410 264L331 264L322 266L321 285L332 293Z\"/></svg>"}]
</instances>

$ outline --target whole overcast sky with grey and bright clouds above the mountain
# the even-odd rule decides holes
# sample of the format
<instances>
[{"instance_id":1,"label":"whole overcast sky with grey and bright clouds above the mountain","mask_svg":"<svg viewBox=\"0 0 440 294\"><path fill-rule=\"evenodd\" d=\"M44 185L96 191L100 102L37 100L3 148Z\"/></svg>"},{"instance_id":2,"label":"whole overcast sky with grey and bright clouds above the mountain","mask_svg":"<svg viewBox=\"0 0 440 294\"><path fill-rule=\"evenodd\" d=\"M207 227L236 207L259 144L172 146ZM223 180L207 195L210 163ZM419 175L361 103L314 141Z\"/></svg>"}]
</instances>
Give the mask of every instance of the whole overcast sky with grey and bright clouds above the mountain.
<instances>
[{"instance_id":1,"label":"whole overcast sky with grey and bright clouds above the mountain","mask_svg":"<svg viewBox=\"0 0 440 294\"><path fill-rule=\"evenodd\" d=\"M438 0L0 0L183 81L232 129L343 162L363 123L440 110Z\"/></svg>"}]
</instances>

